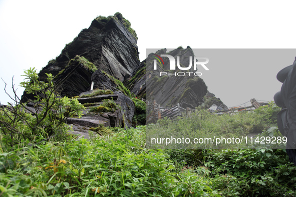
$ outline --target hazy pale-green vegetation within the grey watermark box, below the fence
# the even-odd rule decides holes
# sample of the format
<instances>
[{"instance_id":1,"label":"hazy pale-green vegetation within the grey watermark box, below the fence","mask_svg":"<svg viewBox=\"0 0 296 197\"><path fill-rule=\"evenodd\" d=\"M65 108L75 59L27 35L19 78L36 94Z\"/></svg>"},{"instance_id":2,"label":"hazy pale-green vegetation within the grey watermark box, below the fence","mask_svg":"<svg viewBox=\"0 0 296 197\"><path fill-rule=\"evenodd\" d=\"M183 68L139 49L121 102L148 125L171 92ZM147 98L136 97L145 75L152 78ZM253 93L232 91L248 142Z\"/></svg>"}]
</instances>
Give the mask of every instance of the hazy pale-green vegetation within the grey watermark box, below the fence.
<instances>
[{"instance_id":1,"label":"hazy pale-green vegetation within the grey watermark box, below the fence","mask_svg":"<svg viewBox=\"0 0 296 197\"><path fill-rule=\"evenodd\" d=\"M261 106L255 109L254 112L240 111L234 114L213 114L206 109L198 109L196 112L188 116L178 117L174 120L160 119L156 124L147 125L147 135L161 137L184 136L185 138L204 137L213 138L214 136L240 137L247 136L251 132L263 132L269 135L269 129L276 127L276 113L280 110L274 103L269 103L269 106ZM273 129L274 130L274 129ZM277 130L277 129L276 129ZM277 130L278 131L278 130ZM279 136L278 132L274 135ZM157 148L162 144L153 144L153 148ZM173 145L167 148L176 148ZM231 143L231 144L184 144L183 148L245 148L250 147L250 144ZM260 145L260 144L257 144ZM180 144L177 145L180 147ZM284 146L283 146L284 147Z\"/></svg>"}]
</instances>

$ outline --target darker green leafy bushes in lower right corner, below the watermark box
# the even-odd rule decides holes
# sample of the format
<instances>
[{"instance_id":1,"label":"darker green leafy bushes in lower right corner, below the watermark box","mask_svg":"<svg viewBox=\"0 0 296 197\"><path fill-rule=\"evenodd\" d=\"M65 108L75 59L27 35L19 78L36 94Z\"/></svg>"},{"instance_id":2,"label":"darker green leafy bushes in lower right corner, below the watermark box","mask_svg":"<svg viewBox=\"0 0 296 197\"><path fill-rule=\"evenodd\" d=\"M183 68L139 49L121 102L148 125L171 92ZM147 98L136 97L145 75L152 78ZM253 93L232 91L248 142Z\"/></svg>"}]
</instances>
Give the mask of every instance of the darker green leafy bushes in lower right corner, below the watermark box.
<instances>
[{"instance_id":1,"label":"darker green leafy bushes in lower right corner, below the watermark box","mask_svg":"<svg viewBox=\"0 0 296 197\"><path fill-rule=\"evenodd\" d=\"M223 195L232 190L233 196L291 196L296 189L296 166L282 149L207 150L205 159ZM219 183L223 179L229 180L226 187Z\"/></svg>"}]
</instances>

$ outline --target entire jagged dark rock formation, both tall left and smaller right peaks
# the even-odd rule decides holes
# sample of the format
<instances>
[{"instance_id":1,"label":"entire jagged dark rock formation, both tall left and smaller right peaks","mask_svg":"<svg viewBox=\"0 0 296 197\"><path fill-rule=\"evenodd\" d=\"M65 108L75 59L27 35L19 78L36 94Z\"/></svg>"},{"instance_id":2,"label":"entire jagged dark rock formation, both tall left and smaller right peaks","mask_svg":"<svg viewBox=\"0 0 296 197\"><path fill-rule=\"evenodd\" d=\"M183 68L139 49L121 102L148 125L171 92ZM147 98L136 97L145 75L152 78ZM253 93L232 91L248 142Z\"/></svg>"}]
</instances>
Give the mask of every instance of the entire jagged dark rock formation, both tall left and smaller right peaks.
<instances>
[{"instance_id":1,"label":"entire jagged dark rock formation, both tall left and smaller right peaks","mask_svg":"<svg viewBox=\"0 0 296 197\"><path fill-rule=\"evenodd\" d=\"M135 104L139 100L132 98L134 94L138 98L157 100L163 106L180 103L182 107L195 108L207 98L211 100L206 104L219 101L207 94L207 86L198 76L156 76L151 71L152 54L140 62L136 43L137 35L121 13L98 16L40 71L40 80L46 80L46 73L52 73L62 96L78 97L87 107L82 118L68 119L76 130L87 131L99 125L129 127L135 122L144 123L145 107L139 108L139 104ZM168 53L161 49L156 53L194 56L190 47ZM180 64L187 64L186 58L180 59ZM165 65L168 65L168 59L165 59ZM162 66L160 69L166 71L169 68ZM95 94L98 92L100 94ZM30 100L32 96L25 92L22 101ZM135 121L134 114L141 121Z\"/></svg>"}]
</instances>

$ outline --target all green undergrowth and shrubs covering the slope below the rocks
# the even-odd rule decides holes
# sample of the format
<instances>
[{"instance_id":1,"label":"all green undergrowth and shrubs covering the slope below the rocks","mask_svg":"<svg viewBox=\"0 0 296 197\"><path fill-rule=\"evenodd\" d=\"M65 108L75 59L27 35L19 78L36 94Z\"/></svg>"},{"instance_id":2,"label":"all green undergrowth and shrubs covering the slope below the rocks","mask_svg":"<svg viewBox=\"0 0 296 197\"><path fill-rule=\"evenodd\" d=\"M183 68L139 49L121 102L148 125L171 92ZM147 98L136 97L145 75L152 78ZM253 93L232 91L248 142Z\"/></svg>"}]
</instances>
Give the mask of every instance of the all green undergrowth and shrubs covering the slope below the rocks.
<instances>
[{"instance_id":1,"label":"all green undergrowth and shrubs covering the slope below the rocks","mask_svg":"<svg viewBox=\"0 0 296 197\"><path fill-rule=\"evenodd\" d=\"M34 69L27 76L31 82L23 85L30 91L51 89L37 81ZM228 116L198 109L154 125L104 132L98 127L90 139L79 139L67 134L69 126L61 120L79 115L82 105L58 98L54 90L45 91L46 98L36 97L40 114L35 117L20 103L0 108L0 196L295 196L296 166L284 149L148 149L145 143L148 127L226 135L263 130L262 136L277 136L279 108L273 103Z\"/></svg>"}]
</instances>

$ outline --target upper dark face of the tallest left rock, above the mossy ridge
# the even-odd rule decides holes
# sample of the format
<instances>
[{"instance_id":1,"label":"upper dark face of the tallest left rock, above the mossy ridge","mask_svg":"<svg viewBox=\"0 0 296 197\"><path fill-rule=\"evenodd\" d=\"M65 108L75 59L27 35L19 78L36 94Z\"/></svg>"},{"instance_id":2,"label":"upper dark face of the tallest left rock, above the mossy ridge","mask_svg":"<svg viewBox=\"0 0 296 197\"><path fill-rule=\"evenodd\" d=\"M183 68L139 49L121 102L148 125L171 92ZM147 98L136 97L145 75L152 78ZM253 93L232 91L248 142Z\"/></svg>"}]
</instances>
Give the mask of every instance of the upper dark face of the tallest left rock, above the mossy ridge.
<instances>
[{"instance_id":1,"label":"upper dark face of the tallest left rock, above the mossy ridge","mask_svg":"<svg viewBox=\"0 0 296 197\"><path fill-rule=\"evenodd\" d=\"M118 16L118 17L117 17ZM40 73L40 79L46 78L45 73L57 75L76 55L84 56L99 70L119 80L125 75L132 75L140 64L137 37L128 20L120 13L114 16L95 18L88 29L83 29L78 36L66 44L62 53L49 61Z\"/></svg>"}]
</instances>

